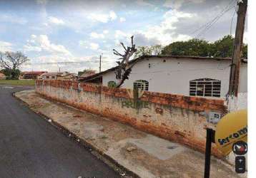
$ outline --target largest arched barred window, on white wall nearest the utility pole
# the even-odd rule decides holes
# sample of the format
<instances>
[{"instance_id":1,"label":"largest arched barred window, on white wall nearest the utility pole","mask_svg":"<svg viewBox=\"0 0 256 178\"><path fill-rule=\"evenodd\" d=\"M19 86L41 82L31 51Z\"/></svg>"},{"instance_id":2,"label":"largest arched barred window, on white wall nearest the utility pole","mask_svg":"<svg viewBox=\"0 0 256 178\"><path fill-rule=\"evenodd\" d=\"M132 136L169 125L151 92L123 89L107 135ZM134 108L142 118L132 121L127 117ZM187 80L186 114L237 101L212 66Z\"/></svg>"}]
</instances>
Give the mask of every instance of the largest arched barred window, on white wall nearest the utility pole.
<instances>
[{"instance_id":1,"label":"largest arched barred window, on white wall nearest the utility pole","mask_svg":"<svg viewBox=\"0 0 256 178\"><path fill-rule=\"evenodd\" d=\"M189 81L190 96L220 97L221 81L211 78L200 78Z\"/></svg>"}]
</instances>

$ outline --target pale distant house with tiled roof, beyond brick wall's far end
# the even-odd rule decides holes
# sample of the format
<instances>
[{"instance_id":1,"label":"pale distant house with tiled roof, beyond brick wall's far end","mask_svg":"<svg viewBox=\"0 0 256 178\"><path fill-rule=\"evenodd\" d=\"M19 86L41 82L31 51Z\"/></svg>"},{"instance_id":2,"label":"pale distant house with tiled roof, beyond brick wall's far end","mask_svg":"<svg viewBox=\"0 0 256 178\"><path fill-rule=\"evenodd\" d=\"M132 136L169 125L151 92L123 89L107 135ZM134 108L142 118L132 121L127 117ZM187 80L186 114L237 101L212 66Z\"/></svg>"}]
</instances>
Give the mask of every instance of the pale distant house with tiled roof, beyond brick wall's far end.
<instances>
[{"instance_id":1,"label":"pale distant house with tiled roof, beyond brick wall's far end","mask_svg":"<svg viewBox=\"0 0 256 178\"><path fill-rule=\"evenodd\" d=\"M77 80L77 75L68 72L44 73L39 79L41 80Z\"/></svg>"}]
</instances>

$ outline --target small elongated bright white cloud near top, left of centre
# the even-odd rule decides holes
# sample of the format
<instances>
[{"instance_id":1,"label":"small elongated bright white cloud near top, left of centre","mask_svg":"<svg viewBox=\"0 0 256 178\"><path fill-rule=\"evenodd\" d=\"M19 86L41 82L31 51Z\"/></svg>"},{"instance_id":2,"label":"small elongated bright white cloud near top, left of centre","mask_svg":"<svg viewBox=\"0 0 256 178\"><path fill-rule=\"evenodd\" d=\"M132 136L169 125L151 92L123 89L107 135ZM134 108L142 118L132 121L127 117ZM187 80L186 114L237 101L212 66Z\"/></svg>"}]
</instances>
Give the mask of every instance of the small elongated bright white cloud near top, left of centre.
<instances>
[{"instance_id":1,"label":"small elongated bright white cloud near top, left of centre","mask_svg":"<svg viewBox=\"0 0 256 178\"><path fill-rule=\"evenodd\" d=\"M92 21L107 23L108 21L114 21L117 19L117 14L115 14L114 11L109 11L108 14L92 13L89 14L87 18Z\"/></svg>"}]
</instances>

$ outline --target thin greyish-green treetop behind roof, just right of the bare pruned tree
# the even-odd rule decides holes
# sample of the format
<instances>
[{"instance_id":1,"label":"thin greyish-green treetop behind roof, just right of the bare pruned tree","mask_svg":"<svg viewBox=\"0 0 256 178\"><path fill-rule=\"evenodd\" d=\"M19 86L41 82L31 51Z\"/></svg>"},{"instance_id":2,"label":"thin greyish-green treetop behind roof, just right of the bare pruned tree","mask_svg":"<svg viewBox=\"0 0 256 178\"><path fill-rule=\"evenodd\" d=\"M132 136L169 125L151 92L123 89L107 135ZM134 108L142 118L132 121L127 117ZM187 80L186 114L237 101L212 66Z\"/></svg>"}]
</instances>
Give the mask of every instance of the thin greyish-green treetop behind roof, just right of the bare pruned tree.
<instances>
[{"instance_id":1,"label":"thin greyish-green treetop behind roof, just right of the bare pruned tree","mask_svg":"<svg viewBox=\"0 0 256 178\"><path fill-rule=\"evenodd\" d=\"M162 46L154 45L154 46L139 46L137 51L134 53L134 58L138 58L139 56L144 55L161 55Z\"/></svg>"}]
</instances>

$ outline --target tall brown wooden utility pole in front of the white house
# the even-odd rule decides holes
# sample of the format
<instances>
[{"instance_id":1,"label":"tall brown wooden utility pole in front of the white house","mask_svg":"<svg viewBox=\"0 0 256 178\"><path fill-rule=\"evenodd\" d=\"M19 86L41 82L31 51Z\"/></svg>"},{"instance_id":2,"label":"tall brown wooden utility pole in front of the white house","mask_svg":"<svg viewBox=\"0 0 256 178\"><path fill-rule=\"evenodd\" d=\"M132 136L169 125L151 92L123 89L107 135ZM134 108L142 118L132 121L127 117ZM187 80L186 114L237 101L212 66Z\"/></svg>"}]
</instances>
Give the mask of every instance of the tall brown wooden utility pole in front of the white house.
<instances>
[{"instance_id":1,"label":"tall brown wooden utility pole in front of the white house","mask_svg":"<svg viewBox=\"0 0 256 178\"><path fill-rule=\"evenodd\" d=\"M237 11L237 27L235 30L235 42L232 53L232 64L230 68L230 88L229 95L235 95L237 97L239 75L240 75L240 63L241 63L241 51L242 51L242 39L245 30L245 16L247 11L247 0L239 0Z\"/></svg>"}]
</instances>

